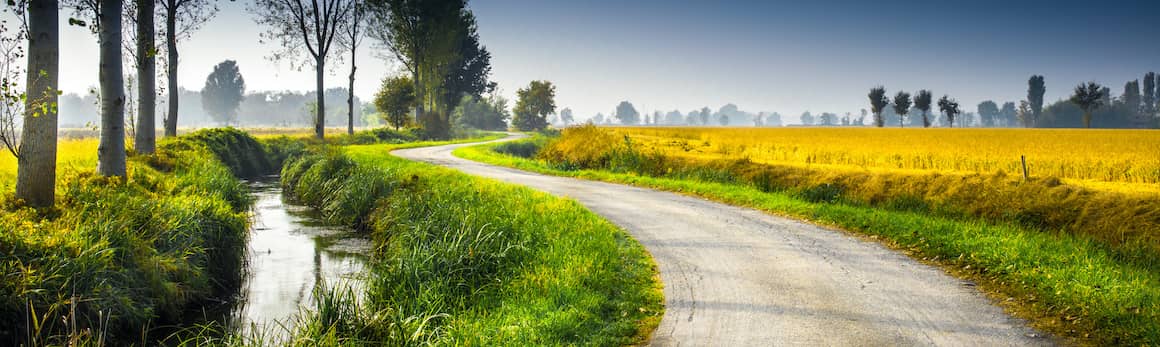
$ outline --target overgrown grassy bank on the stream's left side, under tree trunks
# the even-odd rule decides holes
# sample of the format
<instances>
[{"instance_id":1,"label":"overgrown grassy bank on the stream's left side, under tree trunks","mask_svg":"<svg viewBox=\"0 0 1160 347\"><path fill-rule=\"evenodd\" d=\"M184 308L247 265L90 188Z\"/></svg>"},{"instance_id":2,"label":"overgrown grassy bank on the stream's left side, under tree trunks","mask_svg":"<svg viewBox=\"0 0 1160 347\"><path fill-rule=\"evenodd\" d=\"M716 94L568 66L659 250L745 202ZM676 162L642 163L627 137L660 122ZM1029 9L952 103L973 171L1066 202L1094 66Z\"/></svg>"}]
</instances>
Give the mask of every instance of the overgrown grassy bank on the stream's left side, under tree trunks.
<instances>
[{"instance_id":1,"label":"overgrown grassy bank on the stream's left side, under tree trunks","mask_svg":"<svg viewBox=\"0 0 1160 347\"><path fill-rule=\"evenodd\" d=\"M130 158L125 179L63 171L51 209L3 197L0 345L139 342L232 296L251 197L242 166L215 153L262 151L239 131L200 131Z\"/></svg>"}]
</instances>

